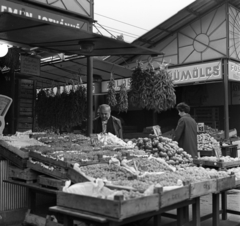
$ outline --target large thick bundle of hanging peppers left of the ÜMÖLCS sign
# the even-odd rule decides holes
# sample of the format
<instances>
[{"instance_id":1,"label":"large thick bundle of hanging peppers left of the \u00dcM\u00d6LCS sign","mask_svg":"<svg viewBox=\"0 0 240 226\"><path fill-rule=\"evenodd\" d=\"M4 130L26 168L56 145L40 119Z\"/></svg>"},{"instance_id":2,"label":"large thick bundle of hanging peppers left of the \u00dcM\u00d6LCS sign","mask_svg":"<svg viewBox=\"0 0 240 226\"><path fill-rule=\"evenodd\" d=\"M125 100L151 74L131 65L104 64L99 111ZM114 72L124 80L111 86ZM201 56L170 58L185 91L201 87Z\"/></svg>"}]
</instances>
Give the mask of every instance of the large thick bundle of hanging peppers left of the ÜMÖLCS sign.
<instances>
[{"instance_id":1,"label":"large thick bundle of hanging peppers left of the \u00dcM\u00d6LCS sign","mask_svg":"<svg viewBox=\"0 0 240 226\"><path fill-rule=\"evenodd\" d=\"M131 102L156 112L166 111L176 104L174 84L167 69L160 65L159 69L149 64L146 70L138 62L131 78Z\"/></svg>"}]
</instances>

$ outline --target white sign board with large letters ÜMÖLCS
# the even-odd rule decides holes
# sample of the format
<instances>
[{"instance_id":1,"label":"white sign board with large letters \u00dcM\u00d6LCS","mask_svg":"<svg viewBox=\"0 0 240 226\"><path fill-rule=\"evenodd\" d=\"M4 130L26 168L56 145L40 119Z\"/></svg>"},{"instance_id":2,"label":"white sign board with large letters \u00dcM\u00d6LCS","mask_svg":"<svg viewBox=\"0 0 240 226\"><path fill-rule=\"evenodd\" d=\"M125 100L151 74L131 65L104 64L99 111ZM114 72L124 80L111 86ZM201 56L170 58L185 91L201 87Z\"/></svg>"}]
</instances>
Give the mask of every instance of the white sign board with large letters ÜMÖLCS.
<instances>
[{"instance_id":1,"label":"white sign board with large letters \u00dcM\u00d6LCS","mask_svg":"<svg viewBox=\"0 0 240 226\"><path fill-rule=\"evenodd\" d=\"M222 79L222 64L220 61L171 68L168 71L176 85Z\"/></svg>"}]
</instances>

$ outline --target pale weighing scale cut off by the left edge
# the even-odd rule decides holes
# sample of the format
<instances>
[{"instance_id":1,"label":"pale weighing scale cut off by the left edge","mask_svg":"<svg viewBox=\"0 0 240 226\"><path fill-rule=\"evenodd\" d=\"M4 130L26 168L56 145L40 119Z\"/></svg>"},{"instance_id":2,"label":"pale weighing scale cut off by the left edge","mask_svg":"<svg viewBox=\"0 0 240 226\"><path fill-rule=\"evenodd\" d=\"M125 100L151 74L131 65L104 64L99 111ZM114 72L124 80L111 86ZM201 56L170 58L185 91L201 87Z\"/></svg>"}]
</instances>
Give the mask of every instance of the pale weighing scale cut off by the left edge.
<instances>
[{"instance_id":1,"label":"pale weighing scale cut off by the left edge","mask_svg":"<svg viewBox=\"0 0 240 226\"><path fill-rule=\"evenodd\" d=\"M12 103L12 98L0 95L0 135L5 128L5 116Z\"/></svg>"}]
</instances>

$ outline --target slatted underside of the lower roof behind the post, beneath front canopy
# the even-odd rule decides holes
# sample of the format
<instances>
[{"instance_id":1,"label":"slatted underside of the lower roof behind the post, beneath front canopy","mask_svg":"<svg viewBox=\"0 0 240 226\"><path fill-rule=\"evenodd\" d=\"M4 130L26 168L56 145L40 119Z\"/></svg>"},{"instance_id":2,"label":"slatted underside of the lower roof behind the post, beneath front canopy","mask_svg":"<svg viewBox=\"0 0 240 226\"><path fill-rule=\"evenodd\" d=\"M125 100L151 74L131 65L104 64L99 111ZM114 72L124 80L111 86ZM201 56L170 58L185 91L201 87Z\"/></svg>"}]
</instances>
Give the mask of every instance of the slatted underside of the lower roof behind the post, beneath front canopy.
<instances>
[{"instance_id":1,"label":"slatted underside of the lower roof behind the post, beneath front canopy","mask_svg":"<svg viewBox=\"0 0 240 226\"><path fill-rule=\"evenodd\" d=\"M115 79L129 78L131 70L122 66L108 63L97 58L93 58L93 82L109 81L110 74L114 74ZM65 85L79 82L87 82L87 59L86 57L75 57L64 61L58 60L41 65L40 75L25 75L37 81L37 88L48 88L54 85ZM18 74L17 74L18 76ZM21 75L24 76L24 75Z\"/></svg>"}]
</instances>

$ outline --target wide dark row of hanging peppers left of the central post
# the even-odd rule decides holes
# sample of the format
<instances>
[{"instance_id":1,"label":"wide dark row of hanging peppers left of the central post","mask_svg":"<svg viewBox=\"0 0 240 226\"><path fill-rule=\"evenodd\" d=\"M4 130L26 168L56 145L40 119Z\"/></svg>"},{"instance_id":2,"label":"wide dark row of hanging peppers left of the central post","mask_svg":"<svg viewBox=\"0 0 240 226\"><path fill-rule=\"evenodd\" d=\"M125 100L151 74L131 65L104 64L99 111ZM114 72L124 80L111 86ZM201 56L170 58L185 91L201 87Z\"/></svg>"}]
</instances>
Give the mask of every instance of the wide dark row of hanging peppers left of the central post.
<instances>
[{"instance_id":1,"label":"wide dark row of hanging peppers left of the central post","mask_svg":"<svg viewBox=\"0 0 240 226\"><path fill-rule=\"evenodd\" d=\"M81 125L87 116L87 91L82 85L55 94L53 88L38 93L36 114L40 129L62 129Z\"/></svg>"}]
</instances>

